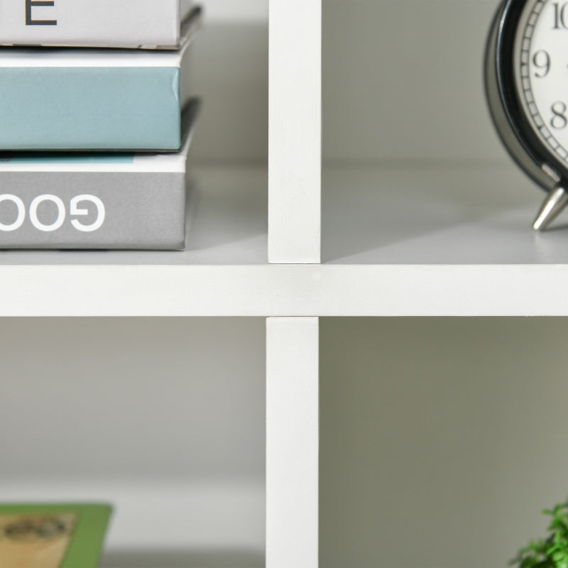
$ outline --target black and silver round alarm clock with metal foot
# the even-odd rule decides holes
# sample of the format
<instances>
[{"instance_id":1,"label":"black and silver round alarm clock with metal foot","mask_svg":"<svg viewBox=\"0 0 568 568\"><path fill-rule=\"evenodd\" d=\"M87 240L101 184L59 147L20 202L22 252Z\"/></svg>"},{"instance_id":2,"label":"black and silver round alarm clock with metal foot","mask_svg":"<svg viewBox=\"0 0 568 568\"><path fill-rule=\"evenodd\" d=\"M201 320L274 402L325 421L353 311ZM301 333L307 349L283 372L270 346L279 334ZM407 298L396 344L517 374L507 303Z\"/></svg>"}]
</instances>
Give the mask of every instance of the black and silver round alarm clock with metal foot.
<instances>
[{"instance_id":1,"label":"black and silver round alarm clock with metal foot","mask_svg":"<svg viewBox=\"0 0 568 568\"><path fill-rule=\"evenodd\" d=\"M547 192L533 224L545 230L568 204L568 1L503 0L485 83L503 144Z\"/></svg>"}]
</instances>

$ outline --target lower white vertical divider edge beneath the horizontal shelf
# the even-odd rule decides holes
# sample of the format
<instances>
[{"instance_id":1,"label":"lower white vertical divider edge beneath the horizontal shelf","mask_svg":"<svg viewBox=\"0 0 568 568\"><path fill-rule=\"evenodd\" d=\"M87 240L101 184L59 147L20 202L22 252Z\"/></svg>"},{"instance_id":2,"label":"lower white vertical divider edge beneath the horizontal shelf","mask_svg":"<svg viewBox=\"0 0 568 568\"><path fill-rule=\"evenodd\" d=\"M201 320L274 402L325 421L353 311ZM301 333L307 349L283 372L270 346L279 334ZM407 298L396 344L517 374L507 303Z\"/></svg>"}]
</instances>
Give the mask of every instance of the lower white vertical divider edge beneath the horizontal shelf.
<instances>
[{"instance_id":1,"label":"lower white vertical divider edge beneath the horizontal shelf","mask_svg":"<svg viewBox=\"0 0 568 568\"><path fill-rule=\"evenodd\" d=\"M317 568L317 317L266 322L266 568Z\"/></svg>"}]
</instances>

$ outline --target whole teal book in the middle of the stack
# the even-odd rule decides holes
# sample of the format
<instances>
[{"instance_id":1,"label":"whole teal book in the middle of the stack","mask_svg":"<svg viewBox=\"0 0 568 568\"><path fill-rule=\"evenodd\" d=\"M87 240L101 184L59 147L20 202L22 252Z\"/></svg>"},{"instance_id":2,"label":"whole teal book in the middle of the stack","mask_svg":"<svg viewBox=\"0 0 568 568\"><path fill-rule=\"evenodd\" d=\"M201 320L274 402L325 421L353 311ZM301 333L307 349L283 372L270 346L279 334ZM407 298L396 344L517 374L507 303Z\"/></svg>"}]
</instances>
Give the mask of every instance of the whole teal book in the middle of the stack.
<instances>
[{"instance_id":1,"label":"whole teal book in the middle of the stack","mask_svg":"<svg viewBox=\"0 0 568 568\"><path fill-rule=\"evenodd\" d=\"M0 150L178 151L191 96L189 51L0 50Z\"/></svg>"}]
</instances>

